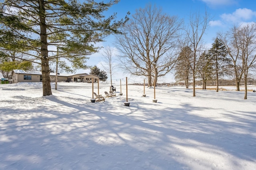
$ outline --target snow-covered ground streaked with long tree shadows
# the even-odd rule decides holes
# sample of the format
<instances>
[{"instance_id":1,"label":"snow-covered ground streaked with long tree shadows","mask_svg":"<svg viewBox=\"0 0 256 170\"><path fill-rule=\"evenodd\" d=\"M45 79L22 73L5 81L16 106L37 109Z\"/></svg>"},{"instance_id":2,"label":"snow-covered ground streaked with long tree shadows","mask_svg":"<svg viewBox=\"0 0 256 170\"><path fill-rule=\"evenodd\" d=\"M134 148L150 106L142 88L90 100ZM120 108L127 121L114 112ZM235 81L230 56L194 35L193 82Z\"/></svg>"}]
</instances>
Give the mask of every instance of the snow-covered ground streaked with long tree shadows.
<instances>
[{"instance_id":1,"label":"snow-covered ground streaked with long tree shadows","mask_svg":"<svg viewBox=\"0 0 256 170\"><path fill-rule=\"evenodd\" d=\"M110 84L100 84L100 94ZM117 94L120 85L115 84ZM0 84L0 170L255 170L256 93ZM256 90L256 87L252 87ZM98 93L97 84L94 92Z\"/></svg>"}]
</instances>

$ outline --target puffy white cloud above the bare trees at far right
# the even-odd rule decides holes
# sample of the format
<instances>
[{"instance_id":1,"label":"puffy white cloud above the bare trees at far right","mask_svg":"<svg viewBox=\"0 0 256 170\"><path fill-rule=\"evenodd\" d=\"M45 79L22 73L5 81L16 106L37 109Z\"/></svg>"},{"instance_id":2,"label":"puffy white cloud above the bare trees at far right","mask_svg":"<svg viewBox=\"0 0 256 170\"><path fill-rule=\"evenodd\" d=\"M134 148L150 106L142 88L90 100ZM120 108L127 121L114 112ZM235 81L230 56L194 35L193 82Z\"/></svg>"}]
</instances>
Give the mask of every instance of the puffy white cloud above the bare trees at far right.
<instances>
[{"instance_id":1,"label":"puffy white cloud above the bare trees at far right","mask_svg":"<svg viewBox=\"0 0 256 170\"><path fill-rule=\"evenodd\" d=\"M251 20L255 16L256 12L247 8L239 8L232 14L222 14L220 17L225 21L238 23Z\"/></svg>"}]
</instances>

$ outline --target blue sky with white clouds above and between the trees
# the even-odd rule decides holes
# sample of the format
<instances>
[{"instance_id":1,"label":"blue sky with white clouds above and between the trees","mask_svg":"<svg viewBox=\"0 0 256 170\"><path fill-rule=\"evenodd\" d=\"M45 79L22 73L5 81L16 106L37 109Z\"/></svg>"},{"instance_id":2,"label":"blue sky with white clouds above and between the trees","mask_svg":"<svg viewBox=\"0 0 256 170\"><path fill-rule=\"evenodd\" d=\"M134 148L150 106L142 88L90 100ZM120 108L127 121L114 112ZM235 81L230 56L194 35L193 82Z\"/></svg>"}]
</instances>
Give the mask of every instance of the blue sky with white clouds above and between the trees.
<instances>
[{"instance_id":1,"label":"blue sky with white clouds above and between the trees","mask_svg":"<svg viewBox=\"0 0 256 170\"><path fill-rule=\"evenodd\" d=\"M100 0L101 1L101 0ZM185 25L188 24L190 13L200 12L204 14L205 10L210 14L210 25L206 30L204 41L210 46L216 33L227 31L234 24L250 23L256 21L256 1L255 0L120 0L112 6L107 14L117 13L118 19L124 18L126 13L130 12L130 18L139 8L145 8L147 4L156 5L162 8L162 11L170 16L178 16L184 19ZM114 41L113 36L105 39L103 47L110 45ZM90 56L89 65L98 65L101 60L100 53ZM114 76L119 78L123 75ZM168 78L167 78L168 79ZM170 82L166 80L166 82Z\"/></svg>"}]
</instances>

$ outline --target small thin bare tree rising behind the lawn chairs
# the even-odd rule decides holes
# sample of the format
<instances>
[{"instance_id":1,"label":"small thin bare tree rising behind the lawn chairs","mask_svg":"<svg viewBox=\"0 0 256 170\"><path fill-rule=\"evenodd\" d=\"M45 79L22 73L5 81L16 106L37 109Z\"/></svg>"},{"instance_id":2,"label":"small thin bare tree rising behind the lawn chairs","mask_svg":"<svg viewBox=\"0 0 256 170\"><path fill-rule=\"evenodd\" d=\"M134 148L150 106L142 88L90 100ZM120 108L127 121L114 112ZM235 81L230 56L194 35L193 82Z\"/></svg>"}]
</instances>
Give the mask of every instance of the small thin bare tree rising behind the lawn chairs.
<instances>
[{"instance_id":1,"label":"small thin bare tree rising behind the lawn chairs","mask_svg":"<svg viewBox=\"0 0 256 170\"><path fill-rule=\"evenodd\" d=\"M110 46L107 46L103 49L102 61L100 61L100 65L110 74L110 81L112 86L112 74L115 72L116 64L114 64L114 56L113 49Z\"/></svg>"}]
</instances>

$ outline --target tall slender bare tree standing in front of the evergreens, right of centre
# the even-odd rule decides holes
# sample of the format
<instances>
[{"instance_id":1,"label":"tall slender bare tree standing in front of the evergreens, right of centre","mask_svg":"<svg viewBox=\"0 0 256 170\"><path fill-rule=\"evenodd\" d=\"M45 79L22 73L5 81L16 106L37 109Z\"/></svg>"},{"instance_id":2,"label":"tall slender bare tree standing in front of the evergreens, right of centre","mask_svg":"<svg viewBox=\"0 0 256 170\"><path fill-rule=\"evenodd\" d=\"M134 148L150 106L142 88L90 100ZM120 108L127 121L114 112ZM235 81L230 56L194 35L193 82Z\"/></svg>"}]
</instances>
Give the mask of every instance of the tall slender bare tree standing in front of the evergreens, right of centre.
<instances>
[{"instance_id":1,"label":"tall slender bare tree standing in front of the evergreens, right of centre","mask_svg":"<svg viewBox=\"0 0 256 170\"><path fill-rule=\"evenodd\" d=\"M190 24L186 31L186 38L188 39L193 53L193 60L190 63L190 67L193 75L193 97L196 96L196 62L198 60L198 56L200 56L200 52L202 51L202 37L205 33L205 30L208 26L209 16L207 12L202 16L200 13L194 13L190 15ZM189 60L188 60L189 61ZM189 61L190 62L190 61Z\"/></svg>"}]
</instances>

